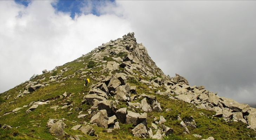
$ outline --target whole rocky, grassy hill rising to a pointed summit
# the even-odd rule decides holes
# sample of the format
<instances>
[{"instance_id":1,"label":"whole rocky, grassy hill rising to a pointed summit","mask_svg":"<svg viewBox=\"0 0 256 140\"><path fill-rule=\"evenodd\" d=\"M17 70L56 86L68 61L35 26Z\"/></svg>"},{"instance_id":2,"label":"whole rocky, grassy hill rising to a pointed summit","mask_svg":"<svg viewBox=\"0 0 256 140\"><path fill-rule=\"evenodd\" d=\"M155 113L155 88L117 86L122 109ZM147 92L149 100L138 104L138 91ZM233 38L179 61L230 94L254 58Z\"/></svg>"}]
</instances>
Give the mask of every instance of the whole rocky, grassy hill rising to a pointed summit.
<instances>
[{"instance_id":1,"label":"whole rocky, grassy hill rising to a pointed summit","mask_svg":"<svg viewBox=\"0 0 256 140\"><path fill-rule=\"evenodd\" d=\"M132 32L1 93L0 127L7 140L252 140L256 109L166 76Z\"/></svg>"}]
</instances>

